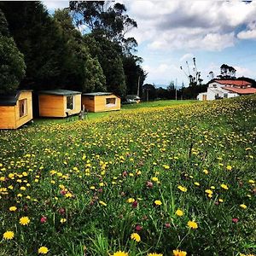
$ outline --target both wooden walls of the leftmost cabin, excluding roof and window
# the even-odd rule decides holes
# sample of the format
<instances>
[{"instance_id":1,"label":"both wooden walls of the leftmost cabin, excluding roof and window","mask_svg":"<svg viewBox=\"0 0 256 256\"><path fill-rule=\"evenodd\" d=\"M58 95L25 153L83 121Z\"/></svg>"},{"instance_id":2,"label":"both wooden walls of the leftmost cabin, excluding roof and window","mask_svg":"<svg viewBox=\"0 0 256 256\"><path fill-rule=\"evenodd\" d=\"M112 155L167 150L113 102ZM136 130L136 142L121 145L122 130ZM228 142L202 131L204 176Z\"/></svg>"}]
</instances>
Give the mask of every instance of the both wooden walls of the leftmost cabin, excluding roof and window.
<instances>
[{"instance_id":1,"label":"both wooden walls of the leftmost cabin, excluding roof and window","mask_svg":"<svg viewBox=\"0 0 256 256\"><path fill-rule=\"evenodd\" d=\"M26 99L26 115L20 117L19 101ZM21 91L15 106L0 106L0 129L16 129L32 119L32 91Z\"/></svg>"}]
</instances>

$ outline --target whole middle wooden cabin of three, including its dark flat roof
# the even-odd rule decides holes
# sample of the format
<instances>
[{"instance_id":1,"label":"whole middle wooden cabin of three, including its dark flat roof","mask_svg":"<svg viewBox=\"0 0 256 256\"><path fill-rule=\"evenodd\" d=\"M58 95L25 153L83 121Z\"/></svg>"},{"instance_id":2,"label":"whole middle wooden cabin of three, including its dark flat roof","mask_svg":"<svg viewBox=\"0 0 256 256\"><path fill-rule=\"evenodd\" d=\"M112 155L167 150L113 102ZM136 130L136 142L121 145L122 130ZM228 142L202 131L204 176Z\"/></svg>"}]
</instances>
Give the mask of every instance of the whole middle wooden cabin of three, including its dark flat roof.
<instances>
[{"instance_id":1,"label":"whole middle wooden cabin of three, including its dark flat roof","mask_svg":"<svg viewBox=\"0 0 256 256\"><path fill-rule=\"evenodd\" d=\"M41 90L38 92L39 116L64 118L81 111L81 92Z\"/></svg>"}]
</instances>

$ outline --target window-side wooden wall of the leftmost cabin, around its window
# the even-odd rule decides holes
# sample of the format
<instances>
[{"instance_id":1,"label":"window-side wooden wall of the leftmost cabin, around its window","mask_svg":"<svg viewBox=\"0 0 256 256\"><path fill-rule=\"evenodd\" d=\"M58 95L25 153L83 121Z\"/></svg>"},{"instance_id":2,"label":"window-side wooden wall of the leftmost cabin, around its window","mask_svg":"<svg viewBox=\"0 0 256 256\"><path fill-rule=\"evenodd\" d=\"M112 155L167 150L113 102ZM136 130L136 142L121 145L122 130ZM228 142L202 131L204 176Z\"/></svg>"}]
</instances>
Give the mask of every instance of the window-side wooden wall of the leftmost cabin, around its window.
<instances>
[{"instance_id":1,"label":"window-side wooden wall of the leftmost cabin, around its window","mask_svg":"<svg viewBox=\"0 0 256 256\"><path fill-rule=\"evenodd\" d=\"M26 115L20 117L20 105L19 101L26 100ZM17 104L15 106L15 121L16 128L26 124L30 121L32 116L32 91L21 91Z\"/></svg>"}]
</instances>

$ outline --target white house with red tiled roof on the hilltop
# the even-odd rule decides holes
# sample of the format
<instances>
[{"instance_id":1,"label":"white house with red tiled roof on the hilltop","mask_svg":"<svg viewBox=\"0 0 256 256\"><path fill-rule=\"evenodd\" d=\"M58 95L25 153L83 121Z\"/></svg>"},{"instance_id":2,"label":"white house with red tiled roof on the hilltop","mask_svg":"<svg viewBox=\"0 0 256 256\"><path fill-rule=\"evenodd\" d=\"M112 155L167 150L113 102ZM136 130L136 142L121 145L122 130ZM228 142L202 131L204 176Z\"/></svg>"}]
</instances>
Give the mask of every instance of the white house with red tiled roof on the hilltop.
<instances>
[{"instance_id":1,"label":"white house with red tiled roof on the hilltop","mask_svg":"<svg viewBox=\"0 0 256 256\"><path fill-rule=\"evenodd\" d=\"M256 88L245 80L213 79L208 83L207 91L201 92L196 98L199 101L212 101L253 93L256 93Z\"/></svg>"}]
</instances>

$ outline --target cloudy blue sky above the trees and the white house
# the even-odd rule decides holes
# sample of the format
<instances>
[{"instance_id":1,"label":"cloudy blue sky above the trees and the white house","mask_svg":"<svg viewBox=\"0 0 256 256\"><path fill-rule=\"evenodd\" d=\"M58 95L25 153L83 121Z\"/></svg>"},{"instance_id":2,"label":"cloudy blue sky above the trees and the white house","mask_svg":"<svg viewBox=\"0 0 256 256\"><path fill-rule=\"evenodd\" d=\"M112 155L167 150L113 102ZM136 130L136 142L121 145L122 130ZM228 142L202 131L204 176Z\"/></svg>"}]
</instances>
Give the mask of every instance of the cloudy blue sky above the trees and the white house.
<instances>
[{"instance_id":1,"label":"cloudy blue sky above the trees and the white house","mask_svg":"<svg viewBox=\"0 0 256 256\"><path fill-rule=\"evenodd\" d=\"M120 0L137 28L136 55L148 73L145 83L186 86L183 73L193 73L193 57L203 83L217 76L222 64L236 68L236 77L256 79L256 0ZM68 1L43 1L49 13ZM188 66L186 64L188 61ZM180 67L183 67L183 70Z\"/></svg>"}]
</instances>

